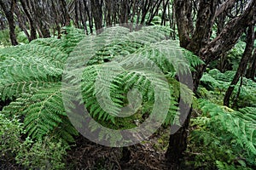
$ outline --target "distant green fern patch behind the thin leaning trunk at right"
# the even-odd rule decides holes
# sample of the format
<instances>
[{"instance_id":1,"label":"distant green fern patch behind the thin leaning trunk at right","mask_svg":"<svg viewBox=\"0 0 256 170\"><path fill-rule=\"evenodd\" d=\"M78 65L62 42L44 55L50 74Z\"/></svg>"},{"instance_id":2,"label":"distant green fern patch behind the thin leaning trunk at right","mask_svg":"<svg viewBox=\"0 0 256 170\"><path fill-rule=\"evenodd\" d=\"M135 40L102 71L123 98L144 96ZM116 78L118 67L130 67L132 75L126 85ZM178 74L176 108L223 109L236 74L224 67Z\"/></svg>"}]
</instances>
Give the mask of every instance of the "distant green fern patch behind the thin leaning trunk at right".
<instances>
[{"instance_id":1,"label":"distant green fern patch behind the thin leaning trunk at right","mask_svg":"<svg viewBox=\"0 0 256 170\"><path fill-rule=\"evenodd\" d=\"M200 88L200 93L206 99L212 100L213 103L222 105L225 91L229 88L230 82L233 80L236 71L225 71L224 73L217 69L212 69L203 75L201 78L201 85L209 91L204 91ZM256 85L250 79L243 77L241 91L239 94L237 107L242 108L246 106L255 107L256 105ZM235 86L231 101L234 101L238 93L240 82Z\"/></svg>"}]
</instances>

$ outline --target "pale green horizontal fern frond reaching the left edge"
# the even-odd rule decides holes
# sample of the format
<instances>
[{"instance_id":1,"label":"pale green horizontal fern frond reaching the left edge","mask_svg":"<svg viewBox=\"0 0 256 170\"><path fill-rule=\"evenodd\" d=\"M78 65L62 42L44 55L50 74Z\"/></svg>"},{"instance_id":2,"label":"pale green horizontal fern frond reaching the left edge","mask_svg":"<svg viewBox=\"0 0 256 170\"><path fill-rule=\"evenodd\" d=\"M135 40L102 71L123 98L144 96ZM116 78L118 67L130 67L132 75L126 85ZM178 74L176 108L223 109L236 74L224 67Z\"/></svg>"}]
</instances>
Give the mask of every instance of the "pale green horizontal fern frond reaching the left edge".
<instances>
[{"instance_id":1,"label":"pale green horizontal fern frond reaching the left edge","mask_svg":"<svg viewBox=\"0 0 256 170\"><path fill-rule=\"evenodd\" d=\"M62 69L48 59L9 58L0 62L0 94L2 100L30 93L33 88L48 87L60 81Z\"/></svg>"}]
</instances>

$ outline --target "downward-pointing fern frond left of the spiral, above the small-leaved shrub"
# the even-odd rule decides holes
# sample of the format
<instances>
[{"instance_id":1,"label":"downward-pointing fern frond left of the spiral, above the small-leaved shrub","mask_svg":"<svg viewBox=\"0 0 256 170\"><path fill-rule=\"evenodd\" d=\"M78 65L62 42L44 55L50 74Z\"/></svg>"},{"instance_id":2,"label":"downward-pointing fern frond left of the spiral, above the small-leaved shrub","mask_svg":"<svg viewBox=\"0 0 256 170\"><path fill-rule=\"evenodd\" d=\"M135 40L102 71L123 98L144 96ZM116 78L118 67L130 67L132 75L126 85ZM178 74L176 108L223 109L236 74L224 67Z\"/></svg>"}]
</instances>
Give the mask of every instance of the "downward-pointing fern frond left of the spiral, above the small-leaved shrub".
<instances>
[{"instance_id":1,"label":"downward-pointing fern frond left of the spiral, above the small-leaved shrub","mask_svg":"<svg viewBox=\"0 0 256 170\"><path fill-rule=\"evenodd\" d=\"M61 86L40 90L32 96L32 101L24 111L24 124L32 138L41 139L57 127L61 116L66 116L61 102Z\"/></svg>"}]
</instances>

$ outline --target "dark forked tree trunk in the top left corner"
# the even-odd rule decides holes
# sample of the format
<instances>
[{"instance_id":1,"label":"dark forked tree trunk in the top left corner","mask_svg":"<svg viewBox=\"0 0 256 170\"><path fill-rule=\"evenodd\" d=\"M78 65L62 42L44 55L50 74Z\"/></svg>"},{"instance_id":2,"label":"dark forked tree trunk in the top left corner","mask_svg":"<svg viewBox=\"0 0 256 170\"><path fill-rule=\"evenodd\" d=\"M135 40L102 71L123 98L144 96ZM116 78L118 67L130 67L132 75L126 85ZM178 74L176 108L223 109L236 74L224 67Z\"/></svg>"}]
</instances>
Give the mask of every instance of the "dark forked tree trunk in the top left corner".
<instances>
[{"instance_id":1,"label":"dark forked tree trunk in the top left corner","mask_svg":"<svg viewBox=\"0 0 256 170\"><path fill-rule=\"evenodd\" d=\"M12 45L18 45L17 38L15 35L15 5L16 0L11 0L10 5L6 1L0 0L0 6L3 8L3 12L9 22L9 37Z\"/></svg>"}]
</instances>

